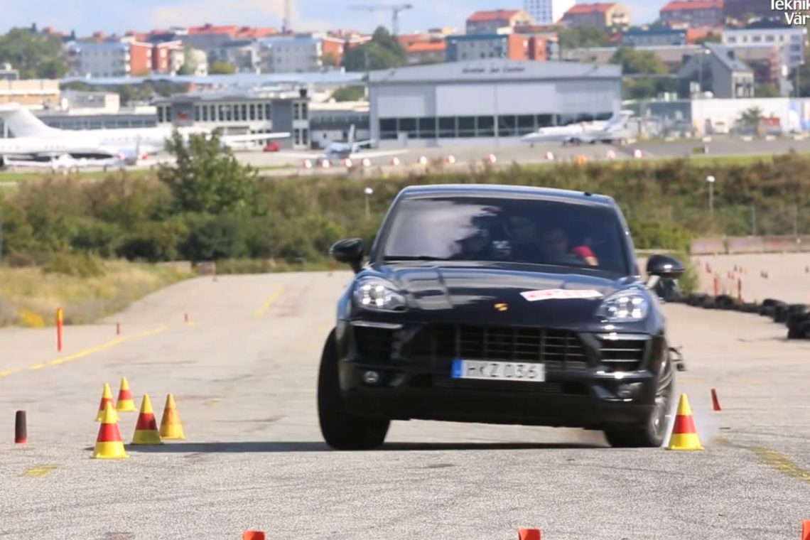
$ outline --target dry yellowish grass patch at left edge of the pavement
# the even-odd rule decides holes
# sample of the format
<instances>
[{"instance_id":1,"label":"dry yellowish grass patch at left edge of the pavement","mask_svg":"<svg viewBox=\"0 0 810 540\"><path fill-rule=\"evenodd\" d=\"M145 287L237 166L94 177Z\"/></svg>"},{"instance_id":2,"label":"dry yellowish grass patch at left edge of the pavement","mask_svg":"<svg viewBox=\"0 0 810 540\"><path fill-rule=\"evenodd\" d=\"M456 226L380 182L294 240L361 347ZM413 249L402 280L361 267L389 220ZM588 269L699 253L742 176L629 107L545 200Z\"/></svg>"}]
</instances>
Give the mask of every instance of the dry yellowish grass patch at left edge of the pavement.
<instances>
[{"instance_id":1,"label":"dry yellowish grass patch at left edge of the pavement","mask_svg":"<svg viewBox=\"0 0 810 540\"><path fill-rule=\"evenodd\" d=\"M0 267L0 326L87 324L126 308L147 294L192 277L163 266L104 261L104 274L80 277L41 267Z\"/></svg>"}]
</instances>

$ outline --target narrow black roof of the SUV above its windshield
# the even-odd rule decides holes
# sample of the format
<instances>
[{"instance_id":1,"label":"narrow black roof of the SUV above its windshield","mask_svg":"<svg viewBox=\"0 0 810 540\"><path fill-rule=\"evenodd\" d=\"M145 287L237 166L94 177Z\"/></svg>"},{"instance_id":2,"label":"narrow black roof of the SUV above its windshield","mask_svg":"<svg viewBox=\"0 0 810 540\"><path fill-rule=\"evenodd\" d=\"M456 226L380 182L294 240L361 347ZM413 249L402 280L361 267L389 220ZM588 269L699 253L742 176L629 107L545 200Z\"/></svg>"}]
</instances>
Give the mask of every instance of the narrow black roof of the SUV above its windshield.
<instances>
[{"instance_id":1,"label":"narrow black roof of the SUV above its windshield","mask_svg":"<svg viewBox=\"0 0 810 540\"><path fill-rule=\"evenodd\" d=\"M434 195L484 196L503 195L506 197L538 198L555 201L570 201L603 206L616 206L608 195L574 191L573 189L544 188L533 185L509 184L430 184L409 185L399 192L403 198Z\"/></svg>"}]
</instances>

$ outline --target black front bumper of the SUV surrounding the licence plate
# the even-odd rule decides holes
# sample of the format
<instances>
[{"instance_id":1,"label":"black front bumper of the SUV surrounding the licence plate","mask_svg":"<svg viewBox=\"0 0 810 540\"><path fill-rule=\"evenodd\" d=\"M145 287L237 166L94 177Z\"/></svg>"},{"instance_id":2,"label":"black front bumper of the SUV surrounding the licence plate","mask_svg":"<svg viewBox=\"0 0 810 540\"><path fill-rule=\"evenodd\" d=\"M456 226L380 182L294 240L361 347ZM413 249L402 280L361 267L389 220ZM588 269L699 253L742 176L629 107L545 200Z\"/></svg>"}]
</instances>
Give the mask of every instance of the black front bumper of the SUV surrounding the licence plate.
<instances>
[{"instance_id":1,"label":"black front bumper of the SUV surrounding the licence plate","mask_svg":"<svg viewBox=\"0 0 810 540\"><path fill-rule=\"evenodd\" d=\"M339 324L340 385L352 414L620 429L654 410L663 337L452 325L443 338L427 332L425 347L428 326ZM535 332L542 337L533 340ZM545 381L454 379L454 358L539 362Z\"/></svg>"}]
</instances>

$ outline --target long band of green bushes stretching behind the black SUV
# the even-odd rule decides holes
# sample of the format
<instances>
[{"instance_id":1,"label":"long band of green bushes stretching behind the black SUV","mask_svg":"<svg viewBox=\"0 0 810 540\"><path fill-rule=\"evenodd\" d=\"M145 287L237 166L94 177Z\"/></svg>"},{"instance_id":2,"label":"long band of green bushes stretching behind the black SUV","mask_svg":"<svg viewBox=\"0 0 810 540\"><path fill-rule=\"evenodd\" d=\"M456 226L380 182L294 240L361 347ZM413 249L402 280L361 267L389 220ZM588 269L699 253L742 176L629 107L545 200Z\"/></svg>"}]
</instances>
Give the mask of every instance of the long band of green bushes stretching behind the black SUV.
<instances>
[{"instance_id":1,"label":"long band of green bushes stretching behind the black SUV","mask_svg":"<svg viewBox=\"0 0 810 540\"><path fill-rule=\"evenodd\" d=\"M400 189L414 184L537 185L612 196L638 249L688 252L695 236L810 232L810 158L789 153L740 164L672 159L432 172L401 178L263 178L212 138L173 139L176 166L157 174L113 173L101 181L49 177L3 193L3 252L22 264L37 253L94 253L143 261L275 260L275 270L328 267L330 245L347 236L370 249ZM714 215L706 175L714 175ZM366 215L365 187L373 188ZM757 211L754 212L753 209ZM72 260L71 260L72 261ZM55 261L66 270L73 262ZM227 262L237 268L242 262ZM257 268L266 268L266 262ZM288 266L289 265L289 266ZM245 266L254 268L254 266Z\"/></svg>"}]
</instances>

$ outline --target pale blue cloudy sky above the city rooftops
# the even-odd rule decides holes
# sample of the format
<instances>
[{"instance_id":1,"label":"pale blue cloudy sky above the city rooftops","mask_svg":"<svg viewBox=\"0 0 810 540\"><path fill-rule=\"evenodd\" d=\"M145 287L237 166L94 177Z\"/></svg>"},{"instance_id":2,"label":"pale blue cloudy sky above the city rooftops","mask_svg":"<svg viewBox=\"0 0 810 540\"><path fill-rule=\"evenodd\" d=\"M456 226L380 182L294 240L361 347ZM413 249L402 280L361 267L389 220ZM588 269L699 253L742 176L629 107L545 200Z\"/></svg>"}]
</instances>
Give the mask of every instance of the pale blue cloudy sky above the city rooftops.
<instances>
[{"instance_id":1,"label":"pale blue cloudy sky above the city rooftops","mask_svg":"<svg viewBox=\"0 0 810 540\"><path fill-rule=\"evenodd\" d=\"M589 0L594 1L594 0ZM372 32L379 25L390 29L391 12L352 10L356 4L408 3L413 9L399 15L401 33L452 27L463 31L464 19L480 9L520 9L522 0L291 0L292 27L296 31L352 29ZM624 0L633 23L651 22L660 6L650 0ZM281 28L283 0L0 0L0 32L15 26L51 26L79 36L97 30L122 34L151 28L194 26L204 23Z\"/></svg>"}]
</instances>

